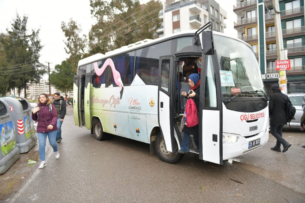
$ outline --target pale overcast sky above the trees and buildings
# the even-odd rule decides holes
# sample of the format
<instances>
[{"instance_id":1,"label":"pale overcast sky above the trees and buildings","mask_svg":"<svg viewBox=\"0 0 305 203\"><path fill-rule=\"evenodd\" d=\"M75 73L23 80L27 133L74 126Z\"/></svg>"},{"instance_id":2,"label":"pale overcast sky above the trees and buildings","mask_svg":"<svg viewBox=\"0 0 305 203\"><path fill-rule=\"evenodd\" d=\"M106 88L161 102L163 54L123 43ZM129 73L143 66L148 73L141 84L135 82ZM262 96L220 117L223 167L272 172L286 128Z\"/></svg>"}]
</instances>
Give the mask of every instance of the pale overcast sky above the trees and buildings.
<instances>
[{"instance_id":1,"label":"pale overcast sky above the trees and buildings","mask_svg":"<svg viewBox=\"0 0 305 203\"><path fill-rule=\"evenodd\" d=\"M145 3L147 0L142 0ZM229 36L237 37L233 22L236 15L233 12L233 4L236 0L216 0L220 6L227 10L227 29L224 33ZM16 12L20 16L28 16L27 29L40 29L41 44L44 45L39 61L45 63L52 62L51 68L68 57L63 40L66 40L61 30L61 22L69 22L73 18L81 25L83 33L88 36L91 25L95 19L90 14L89 0L0 0L0 33L6 33L6 29L11 30L12 19L16 18Z\"/></svg>"}]
</instances>

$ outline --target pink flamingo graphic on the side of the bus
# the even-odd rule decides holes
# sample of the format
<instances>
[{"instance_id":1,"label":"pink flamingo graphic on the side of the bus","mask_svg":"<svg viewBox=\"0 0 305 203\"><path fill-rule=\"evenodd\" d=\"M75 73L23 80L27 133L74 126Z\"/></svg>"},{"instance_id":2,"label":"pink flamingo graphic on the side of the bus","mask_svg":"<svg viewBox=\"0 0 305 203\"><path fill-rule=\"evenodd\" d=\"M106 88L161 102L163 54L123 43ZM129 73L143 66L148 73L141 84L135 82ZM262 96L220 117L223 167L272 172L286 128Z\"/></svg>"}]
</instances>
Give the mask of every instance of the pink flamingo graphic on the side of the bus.
<instances>
[{"instance_id":1,"label":"pink flamingo graphic on the side of the bus","mask_svg":"<svg viewBox=\"0 0 305 203\"><path fill-rule=\"evenodd\" d=\"M94 62L93 65L94 65L94 71L95 71L97 76L102 75L103 72L105 71L106 67L110 66L110 68L112 70L114 82L116 83L117 86L119 86L119 89L120 89L120 99L122 99L124 85L123 85L123 82L122 82L122 79L121 79L121 75L115 69L115 66L114 66L114 63L113 63L112 59L107 58L105 63L102 65L101 68L99 68L99 66L97 65L97 62Z\"/></svg>"}]
</instances>

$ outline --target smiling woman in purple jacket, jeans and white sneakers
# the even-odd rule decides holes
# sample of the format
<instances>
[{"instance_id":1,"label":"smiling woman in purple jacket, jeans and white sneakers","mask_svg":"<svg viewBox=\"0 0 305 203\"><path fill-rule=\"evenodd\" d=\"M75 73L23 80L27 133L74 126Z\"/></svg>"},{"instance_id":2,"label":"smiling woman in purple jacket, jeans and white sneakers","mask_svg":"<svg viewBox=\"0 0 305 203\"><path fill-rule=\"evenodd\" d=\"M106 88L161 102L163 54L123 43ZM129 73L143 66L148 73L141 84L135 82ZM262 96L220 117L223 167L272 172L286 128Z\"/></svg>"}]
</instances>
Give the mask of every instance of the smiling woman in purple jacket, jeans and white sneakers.
<instances>
[{"instance_id":1,"label":"smiling woman in purple jacket, jeans and white sneakers","mask_svg":"<svg viewBox=\"0 0 305 203\"><path fill-rule=\"evenodd\" d=\"M39 168L43 168L45 163L45 143L48 139L50 145L55 152L56 159L59 158L58 146L56 143L56 134L57 134L57 112L55 106L52 104L52 101L48 99L46 94L39 95L38 106L32 112L32 118L34 121L38 121L37 125L37 134L39 140L39 155L41 159L41 163ZM52 110L49 108L49 104L52 105Z\"/></svg>"}]
</instances>

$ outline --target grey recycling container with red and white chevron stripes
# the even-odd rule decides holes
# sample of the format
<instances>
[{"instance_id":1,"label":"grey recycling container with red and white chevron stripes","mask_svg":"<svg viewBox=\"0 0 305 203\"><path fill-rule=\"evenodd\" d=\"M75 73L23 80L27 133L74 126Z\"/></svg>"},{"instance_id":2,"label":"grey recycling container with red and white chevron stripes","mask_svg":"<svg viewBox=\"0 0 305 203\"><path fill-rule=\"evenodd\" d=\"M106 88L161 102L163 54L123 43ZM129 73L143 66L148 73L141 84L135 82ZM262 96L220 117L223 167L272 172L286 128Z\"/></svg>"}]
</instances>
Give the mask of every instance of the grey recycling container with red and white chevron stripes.
<instances>
[{"instance_id":1,"label":"grey recycling container with red and white chevron stripes","mask_svg":"<svg viewBox=\"0 0 305 203\"><path fill-rule=\"evenodd\" d=\"M2 100L11 109L10 113L15 121L16 145L19 147L20 154L30 151L37 141L30 103L23 97L4 97Z\"/></svg>"}]
</instances>

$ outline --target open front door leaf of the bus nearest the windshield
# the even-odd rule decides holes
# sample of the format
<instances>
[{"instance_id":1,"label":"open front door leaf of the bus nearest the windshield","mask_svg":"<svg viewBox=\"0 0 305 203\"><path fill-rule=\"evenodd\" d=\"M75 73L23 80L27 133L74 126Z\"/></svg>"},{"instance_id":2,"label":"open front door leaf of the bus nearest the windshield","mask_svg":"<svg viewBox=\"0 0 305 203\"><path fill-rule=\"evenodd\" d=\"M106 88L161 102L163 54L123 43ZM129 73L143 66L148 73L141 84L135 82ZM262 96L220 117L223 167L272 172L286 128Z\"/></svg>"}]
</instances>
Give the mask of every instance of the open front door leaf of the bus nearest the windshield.
<instances>
[{"instance_id":1,"label":"open front door leaf of the bus nearest the windshield","mask_svg":"<svg viewBox=\"0 0 305 203\"><path fill-rule=\"evenodd\" d=\"M204 71L200 76L199 159L223 164L222 95L215 55L217 50L214 51L212 31L203 31L200 39Z\"/></svg>"}]
</instances>

